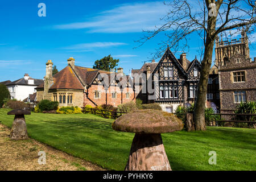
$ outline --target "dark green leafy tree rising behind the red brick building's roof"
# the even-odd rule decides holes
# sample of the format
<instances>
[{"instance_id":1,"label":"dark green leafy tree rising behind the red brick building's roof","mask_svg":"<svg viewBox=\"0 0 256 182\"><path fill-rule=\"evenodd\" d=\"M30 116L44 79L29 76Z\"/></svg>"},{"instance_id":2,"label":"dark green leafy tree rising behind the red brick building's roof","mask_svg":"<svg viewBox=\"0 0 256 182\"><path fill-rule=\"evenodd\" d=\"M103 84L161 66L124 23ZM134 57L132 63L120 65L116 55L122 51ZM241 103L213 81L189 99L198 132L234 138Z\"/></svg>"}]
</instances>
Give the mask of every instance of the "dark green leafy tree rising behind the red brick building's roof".
<instances>
[{"instance_id":1,"label":"dark green leafy tree rising behind the red brick building's roof","mask_svg":"<svg viewBox=\"0 0 256 182\"><path fill-rule=\"evenodd\" d=\"M96 60L93 68L110 71L114 67L117 67L119 59L113 59L111 55L103 57L101 60Z\"/></svg>"}]
</instances>

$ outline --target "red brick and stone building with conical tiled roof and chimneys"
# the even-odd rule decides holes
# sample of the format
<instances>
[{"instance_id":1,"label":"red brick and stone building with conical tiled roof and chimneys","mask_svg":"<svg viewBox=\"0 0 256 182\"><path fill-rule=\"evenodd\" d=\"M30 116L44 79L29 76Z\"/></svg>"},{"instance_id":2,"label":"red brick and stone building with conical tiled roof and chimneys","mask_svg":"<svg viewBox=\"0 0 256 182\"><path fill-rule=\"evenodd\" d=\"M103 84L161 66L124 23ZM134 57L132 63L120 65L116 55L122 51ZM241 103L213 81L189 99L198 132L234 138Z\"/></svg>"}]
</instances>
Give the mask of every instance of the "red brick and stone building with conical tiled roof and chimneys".
<instances>
[{"instance_id":1,"label":"red brick and stone building with conical tiled roof and chimneys","mask_svg":"<svg viewBox=\"0 0 256 182\"><path fill-rule=\"evenodd\" d=\"M130 77L118 72L79 67L73 57L68 65L52 76L52 61L46 63L46 77L37 90L37 100L58 101L60 106L99 106L135 101L135 91Z\"/></svg>"}]
</instances>

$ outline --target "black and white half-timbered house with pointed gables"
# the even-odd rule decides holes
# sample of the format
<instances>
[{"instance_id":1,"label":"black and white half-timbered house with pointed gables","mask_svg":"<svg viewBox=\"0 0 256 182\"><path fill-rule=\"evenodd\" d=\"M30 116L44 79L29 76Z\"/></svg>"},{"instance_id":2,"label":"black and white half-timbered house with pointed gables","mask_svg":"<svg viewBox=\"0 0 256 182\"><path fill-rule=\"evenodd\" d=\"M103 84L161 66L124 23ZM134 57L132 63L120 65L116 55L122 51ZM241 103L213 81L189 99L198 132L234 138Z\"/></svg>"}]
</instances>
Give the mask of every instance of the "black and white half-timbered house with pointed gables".
<instances>
[{"instance_id":1,"label":"black and white half-timbered house with pointed gables","mask_svg":"<svg viewBox=\"0 0 256 182\"><path fill-rule=\"evenodd\" d=\"M190 62L185 53L182 53L180 59L177 59L167 48L159 63L146 64L141 69L147 68L147 85L152 82L154 93L147 92L146 97L145 94L142 97L143 94L140 93L137 98L141 98L144 103L157 103L163 111L170 113L179 105L185 106L195 101L201 69L196 58ZM133 69L132 73L143 72L141 69Z\"/></svg>"}]
</instances>

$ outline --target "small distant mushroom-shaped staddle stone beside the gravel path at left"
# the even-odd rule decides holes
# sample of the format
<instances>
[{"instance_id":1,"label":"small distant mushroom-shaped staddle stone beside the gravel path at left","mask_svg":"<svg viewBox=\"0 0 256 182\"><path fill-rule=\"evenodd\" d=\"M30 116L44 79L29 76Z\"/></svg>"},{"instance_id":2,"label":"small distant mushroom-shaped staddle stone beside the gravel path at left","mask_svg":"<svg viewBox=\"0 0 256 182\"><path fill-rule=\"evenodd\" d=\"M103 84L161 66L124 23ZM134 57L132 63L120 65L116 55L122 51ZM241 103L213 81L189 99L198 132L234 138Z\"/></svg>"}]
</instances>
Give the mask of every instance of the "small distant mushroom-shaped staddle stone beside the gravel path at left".
<instances>
[{"instance_id":1,"label":"small distant mushroom-shaped staddle stone beside the gravel path at left","mask_svg":"<svg viewBox=\"0 0 256 182\"><path fill-rule=\"evenodd\" d=\"M8 115L15 115L13 121L13 127L11 128L10 138L19 140L27 139L27 125L24 115L31 114L28 110L15 109L11 110Z\"/></svg>"}]
</instances>

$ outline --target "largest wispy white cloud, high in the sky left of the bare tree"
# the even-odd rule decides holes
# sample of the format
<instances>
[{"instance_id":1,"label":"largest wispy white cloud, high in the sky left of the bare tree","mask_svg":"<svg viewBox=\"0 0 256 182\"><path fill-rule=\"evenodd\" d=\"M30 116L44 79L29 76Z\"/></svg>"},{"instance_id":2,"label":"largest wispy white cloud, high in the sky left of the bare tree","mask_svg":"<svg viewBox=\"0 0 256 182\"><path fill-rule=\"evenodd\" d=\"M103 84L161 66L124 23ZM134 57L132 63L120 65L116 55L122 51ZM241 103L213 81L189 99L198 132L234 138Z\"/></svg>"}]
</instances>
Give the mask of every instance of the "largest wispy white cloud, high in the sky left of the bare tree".
<instances>
[{"instance_id":1,"label":"largest wispy white cloud, high in the sky left of the bare tree","mask_svg":"<svg viewBox=\"0 0 256 182\"><path fill-rule=\"evenodd\" d=\"M114 9L102 11L85 22L59 24L56 29L82 29L88 32L122 33L154 30L168 12L168 6L160 2L123 4Z\"/></svg>"}]
</instances>

